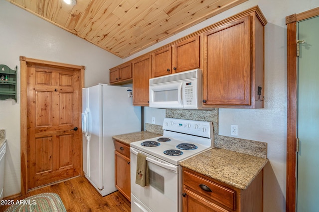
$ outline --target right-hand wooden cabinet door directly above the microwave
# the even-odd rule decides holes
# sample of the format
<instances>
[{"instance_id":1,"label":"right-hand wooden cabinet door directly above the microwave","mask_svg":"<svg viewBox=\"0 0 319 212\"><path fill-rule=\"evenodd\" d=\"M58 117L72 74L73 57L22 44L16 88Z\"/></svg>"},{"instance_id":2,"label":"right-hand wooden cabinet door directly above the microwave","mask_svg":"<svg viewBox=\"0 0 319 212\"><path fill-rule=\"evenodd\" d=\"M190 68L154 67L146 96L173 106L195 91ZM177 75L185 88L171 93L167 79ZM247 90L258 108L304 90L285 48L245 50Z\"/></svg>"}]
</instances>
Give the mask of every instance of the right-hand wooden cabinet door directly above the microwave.
<instances>
[{"instance_id":1,"label":"right-hand wooden cabinet door directly above the microwave","mask_svg":"<svg viewBox=\"0 0 319 212\"><path fill-rule=\"evenodd\" d=\"M200 68L199 35L172 46L172 67L175 73Z\"/></svg>"}]
</instances>

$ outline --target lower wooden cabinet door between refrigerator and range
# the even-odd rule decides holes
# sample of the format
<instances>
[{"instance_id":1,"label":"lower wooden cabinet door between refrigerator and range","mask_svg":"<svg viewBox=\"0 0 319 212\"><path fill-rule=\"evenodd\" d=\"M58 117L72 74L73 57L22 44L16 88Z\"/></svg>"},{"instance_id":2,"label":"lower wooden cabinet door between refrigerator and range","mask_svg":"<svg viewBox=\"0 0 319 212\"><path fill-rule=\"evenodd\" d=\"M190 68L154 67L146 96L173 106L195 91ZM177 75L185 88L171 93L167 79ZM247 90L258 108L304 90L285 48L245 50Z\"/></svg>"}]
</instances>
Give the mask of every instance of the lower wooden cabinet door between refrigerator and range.
<instances>
[{"instance_id":1,"label":"lower wooden cabinet door between refrigerator and range","mask_svg":"<svg viewBox=\"0 0 319 212\"><path fill-rule=\"evenodd\" d=\"M115 186L131 201L131 165L130 158L115 151Z\"/></svg>"}]
</instances>

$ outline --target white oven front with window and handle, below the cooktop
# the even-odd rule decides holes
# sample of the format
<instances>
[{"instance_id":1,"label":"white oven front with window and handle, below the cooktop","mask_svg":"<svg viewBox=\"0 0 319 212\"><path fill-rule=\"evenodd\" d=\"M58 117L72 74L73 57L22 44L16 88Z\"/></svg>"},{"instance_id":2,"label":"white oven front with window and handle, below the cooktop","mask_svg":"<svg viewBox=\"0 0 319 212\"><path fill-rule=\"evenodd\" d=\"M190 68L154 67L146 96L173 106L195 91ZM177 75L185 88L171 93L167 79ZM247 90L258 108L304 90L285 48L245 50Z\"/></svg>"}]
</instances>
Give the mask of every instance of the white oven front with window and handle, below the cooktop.
<instances>
[{"instance_id":1,"label":"white oven front with window and handle, below the cooktop","mask_svg":"<svg viewBox=\"0 0 319 212\"><path fill-rule=\"evenodd\" d=\"M131 151L132 212L178 212L178 166L162 161L133 147ZM138 152L147 156L150 185L135 183ZM135 200L138 199L138 200Z\"/></svg>"}]
</instances>

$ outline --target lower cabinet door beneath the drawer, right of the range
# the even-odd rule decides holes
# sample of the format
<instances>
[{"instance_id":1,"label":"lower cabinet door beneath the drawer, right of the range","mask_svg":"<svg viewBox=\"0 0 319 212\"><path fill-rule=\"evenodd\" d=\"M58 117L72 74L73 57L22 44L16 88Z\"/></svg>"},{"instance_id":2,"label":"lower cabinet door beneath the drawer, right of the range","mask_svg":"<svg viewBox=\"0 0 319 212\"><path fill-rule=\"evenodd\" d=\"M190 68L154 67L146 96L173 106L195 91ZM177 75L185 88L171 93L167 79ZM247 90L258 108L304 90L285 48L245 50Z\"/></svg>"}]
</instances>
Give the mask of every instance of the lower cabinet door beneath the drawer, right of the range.
<instances>
[{"instance_id":1,"label":"lower cabinet door beneath the drawer, right of the range","mask_svg":"<svg viewBox=\"0 0 319 212\"><path fill-rule=\"evenodd\" d=\"M229 212L186 188L182 195L183 212Z\"/></svg>"}]
</instances>

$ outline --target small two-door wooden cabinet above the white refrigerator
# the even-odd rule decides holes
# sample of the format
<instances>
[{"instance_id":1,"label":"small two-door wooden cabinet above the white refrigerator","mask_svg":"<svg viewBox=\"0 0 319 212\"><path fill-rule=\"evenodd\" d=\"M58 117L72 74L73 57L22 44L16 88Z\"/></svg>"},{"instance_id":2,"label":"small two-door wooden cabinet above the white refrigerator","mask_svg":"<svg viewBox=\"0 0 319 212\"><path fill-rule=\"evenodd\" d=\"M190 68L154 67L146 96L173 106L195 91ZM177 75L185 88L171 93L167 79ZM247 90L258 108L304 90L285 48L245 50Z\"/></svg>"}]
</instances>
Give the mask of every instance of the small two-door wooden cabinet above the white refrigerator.
<instances>
[{"instance_id":1,"label":"small two-door wooden cabinet above the white refrigerator","mask_svg":"<svg viewBox=\"0 0 319 212\"><path fill-rule=\"evenodd\" d=\"M125 63L110 69L110 84L127 84L132 82L132 63Z\"/></svg>"}]
</instances>

